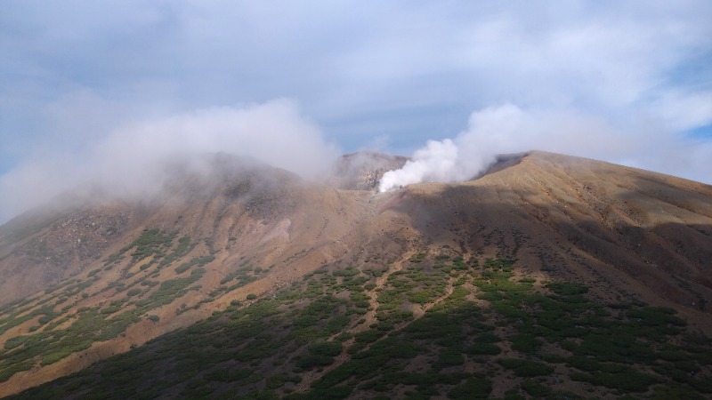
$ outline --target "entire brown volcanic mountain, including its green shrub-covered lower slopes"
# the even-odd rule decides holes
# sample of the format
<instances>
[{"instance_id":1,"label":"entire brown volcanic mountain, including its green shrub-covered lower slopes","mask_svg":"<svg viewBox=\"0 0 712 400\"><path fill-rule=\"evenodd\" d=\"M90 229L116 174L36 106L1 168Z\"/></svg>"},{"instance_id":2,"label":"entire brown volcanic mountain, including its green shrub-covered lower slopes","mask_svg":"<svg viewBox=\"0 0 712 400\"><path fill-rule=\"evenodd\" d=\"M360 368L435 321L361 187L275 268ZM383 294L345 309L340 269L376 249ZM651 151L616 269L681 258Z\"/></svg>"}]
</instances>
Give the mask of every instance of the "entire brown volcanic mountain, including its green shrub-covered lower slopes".
<instances>
[{"instance_id":1,"label":"entire brown volcanic mountain, including its green shrub-covered lower slopes","mask_svg":"<svg viewBox=\"0 0 712 400\"><path fill-rule=\"evenodd\" d=\"M379 163L214 156L12 220L0 396L712 393L712 187L533 151L375 193Z\"/></svg>"}]
</instances>

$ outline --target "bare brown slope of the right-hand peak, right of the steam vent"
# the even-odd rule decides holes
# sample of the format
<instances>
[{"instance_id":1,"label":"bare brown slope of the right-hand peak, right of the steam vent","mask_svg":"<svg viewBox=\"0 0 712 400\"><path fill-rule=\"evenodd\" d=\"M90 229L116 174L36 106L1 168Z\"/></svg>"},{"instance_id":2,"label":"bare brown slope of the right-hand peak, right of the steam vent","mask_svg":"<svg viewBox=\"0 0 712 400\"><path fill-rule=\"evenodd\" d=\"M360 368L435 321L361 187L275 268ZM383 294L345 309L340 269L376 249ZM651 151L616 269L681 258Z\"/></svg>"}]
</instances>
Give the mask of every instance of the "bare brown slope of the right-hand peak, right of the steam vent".
<instances>
[{"instance_id":1,"label":"bare brown slope of the right-hand peak, right of the steam vent","mask_svg":"<svg viewBox=\"0 0 712 400\"><path fill-rule=\"evenodd\" d=\"M653 298L708 311L708 185L534 152L515 167L480 180L414 186L410 191L428 205L433 203L425 199L433 192L453 204L444 221L440 204L421 211L425 218L418 221L420 229L443 223L467 227L469 232L461 237L475 251L497 241L500 253L554 276L620 279L606 286L633 285L627 290L650 290ZM468 237L473 230L480 233Z\"/></svg>"}]
</instances>

